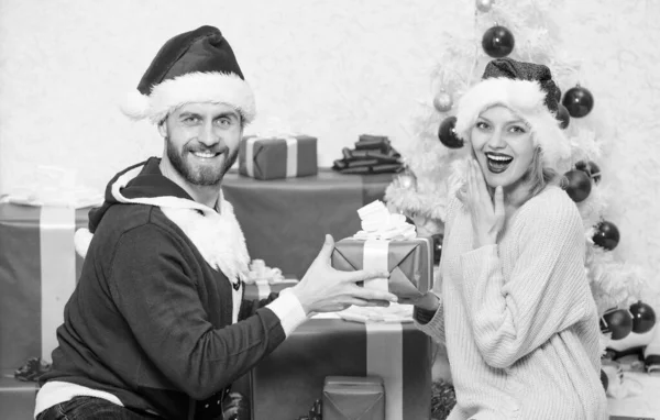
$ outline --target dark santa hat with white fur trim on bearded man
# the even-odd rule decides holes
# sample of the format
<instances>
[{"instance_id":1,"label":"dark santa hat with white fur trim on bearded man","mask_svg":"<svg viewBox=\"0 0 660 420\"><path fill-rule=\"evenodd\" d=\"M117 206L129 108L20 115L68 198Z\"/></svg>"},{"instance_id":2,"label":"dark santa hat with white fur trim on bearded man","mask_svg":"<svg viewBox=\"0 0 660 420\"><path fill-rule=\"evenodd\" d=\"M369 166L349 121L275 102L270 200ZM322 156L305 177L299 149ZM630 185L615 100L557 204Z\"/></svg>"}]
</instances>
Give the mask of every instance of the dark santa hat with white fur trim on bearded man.
<instances>
[{"instance_id":1,"label":"dark santa hat with white fur trim on bearded man","mask_svg":"<svg viewBox=\"0 0 660 420\"><path fill-rule=\"evenodd\" d=\"M188 102L227 103L245 123L256 114L252 89L217 27L201 26L167 41L121 109L133 120L158 123Z\"/></svg>"}]
</instances>

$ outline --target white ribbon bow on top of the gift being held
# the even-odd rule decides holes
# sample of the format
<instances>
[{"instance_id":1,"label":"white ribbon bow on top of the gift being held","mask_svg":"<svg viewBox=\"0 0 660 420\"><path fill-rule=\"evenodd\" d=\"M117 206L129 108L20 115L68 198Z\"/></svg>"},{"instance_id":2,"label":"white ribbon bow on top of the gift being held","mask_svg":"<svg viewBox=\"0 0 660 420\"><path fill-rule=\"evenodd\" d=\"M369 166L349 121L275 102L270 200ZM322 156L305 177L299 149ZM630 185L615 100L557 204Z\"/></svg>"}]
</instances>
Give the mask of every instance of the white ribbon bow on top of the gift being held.
<instances>
[{"instance_id":1,"label":"white ribbon bow on top of the gift being held","mask_svg":"<svg viewBox=\"0 0 660 420\"><path fill-rule=\"evenodd\" d=\"M353 235L356 240L400 241L417 237L414 224L404 214L391 213L383 201L376 200L358 210L362 230Z\"/></svg>"}]
</instances>

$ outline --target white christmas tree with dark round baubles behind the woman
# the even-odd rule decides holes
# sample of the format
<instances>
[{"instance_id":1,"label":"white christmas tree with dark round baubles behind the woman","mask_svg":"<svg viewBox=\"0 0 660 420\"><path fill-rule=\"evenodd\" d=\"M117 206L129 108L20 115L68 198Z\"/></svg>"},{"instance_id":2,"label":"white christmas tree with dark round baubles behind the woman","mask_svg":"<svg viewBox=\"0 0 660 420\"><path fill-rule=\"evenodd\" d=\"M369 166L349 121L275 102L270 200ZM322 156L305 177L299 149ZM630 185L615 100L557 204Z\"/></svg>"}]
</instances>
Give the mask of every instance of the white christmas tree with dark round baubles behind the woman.
<instances>
[{"instance_id":1,"label":"white christmas tree with dark round baubles behind the woman","mask_svg":"<svg viewBox=\"0 0 660 420\"><path fill-rule=\"evenodd\" d=\"M561 10L560 2L476 0L474 8L473 36L447 34L448 47L431 70L429 96L420 101L411 121L414 139L407 148L400 148L406 170L387 188L388 207L413 219L420 234L435 234L437 251L441 251L447 180L452 163L470 153L453 133L457 102L481 80L485 65L493 58L506 56L543 64L563 92L558 120L571 142L572 155L562 163L561 186L584 221L585 269L600 314L615 307L627 309L638 299L659 308L657 294L650 290L641 268L613 252L619 240L615 222L607 220L613 195L608 178L614 174L600 169L613 142L613 131L608 119L594 110L597 98L590 91L588 75L582 71L580 60L571 59L558 47L559 27L550 16Z\"/></svg>"}]
</instances>

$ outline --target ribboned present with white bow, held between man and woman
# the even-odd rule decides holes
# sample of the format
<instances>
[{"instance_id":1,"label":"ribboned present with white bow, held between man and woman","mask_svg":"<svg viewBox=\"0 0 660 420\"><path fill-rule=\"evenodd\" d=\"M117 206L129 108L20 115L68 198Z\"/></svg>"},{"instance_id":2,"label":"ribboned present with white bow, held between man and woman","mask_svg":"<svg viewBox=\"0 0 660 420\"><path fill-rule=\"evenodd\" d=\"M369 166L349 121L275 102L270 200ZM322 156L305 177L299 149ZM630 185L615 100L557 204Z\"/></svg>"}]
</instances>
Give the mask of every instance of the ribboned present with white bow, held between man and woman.
<instances>
[{"instance_id":1,"label":"ribboned present with white bow, held between man and woman","mask_svg":"<svg viewBox=\"0 0 660 420\"><path fill-rule=\"evenodd\" d=\"M358 210L362 231L334 244L332 266L344 272L387 270L364 287L388 290L400 303L422 296L433 285L433 240L416 237L415 226L403 214L392 214L383 202Z\"/></svg>"}]
</instances>

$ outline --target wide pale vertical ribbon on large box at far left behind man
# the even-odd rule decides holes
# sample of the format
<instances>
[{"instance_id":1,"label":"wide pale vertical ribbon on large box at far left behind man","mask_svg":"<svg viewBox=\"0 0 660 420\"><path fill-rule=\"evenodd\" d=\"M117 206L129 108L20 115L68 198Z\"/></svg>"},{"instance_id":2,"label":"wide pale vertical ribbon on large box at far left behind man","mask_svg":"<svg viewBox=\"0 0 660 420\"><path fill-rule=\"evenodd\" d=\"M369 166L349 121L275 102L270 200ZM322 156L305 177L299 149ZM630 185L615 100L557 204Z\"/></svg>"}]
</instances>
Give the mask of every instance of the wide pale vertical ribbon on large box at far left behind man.
<instances>
[{"instance_id":1,"label":"wide pale vertical ribbon on large box at far left behind man","mask_svg":"<svg viewBox=\"0 0 660 420\"><path fill-rule=\"evenodd\" d=\"M64 322L64 306L76 288L76 213L44 207L40 217L42 360L57 346L55 331Z\"/></svg>"}]
</instances>

